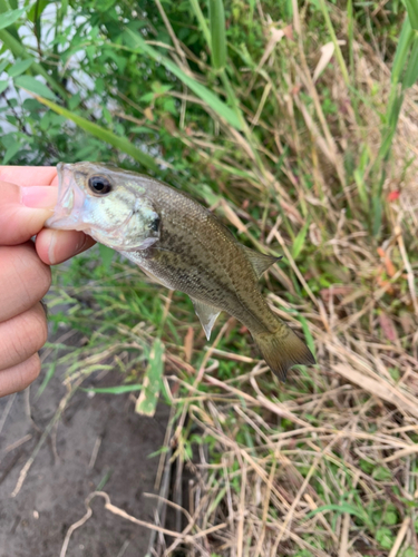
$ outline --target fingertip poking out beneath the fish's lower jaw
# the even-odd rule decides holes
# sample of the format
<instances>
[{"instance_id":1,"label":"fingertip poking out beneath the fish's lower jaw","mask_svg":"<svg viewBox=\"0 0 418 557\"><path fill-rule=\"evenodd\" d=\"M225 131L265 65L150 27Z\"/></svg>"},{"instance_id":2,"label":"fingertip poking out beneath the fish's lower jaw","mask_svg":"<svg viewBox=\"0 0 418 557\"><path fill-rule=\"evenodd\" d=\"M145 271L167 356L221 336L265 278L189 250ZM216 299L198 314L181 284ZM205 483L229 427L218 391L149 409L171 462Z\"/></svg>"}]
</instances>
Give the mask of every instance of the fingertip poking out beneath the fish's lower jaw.
<instances>
[{"instance_id":1,"label":"fingertip poking out beneath the fish's lower jaw","mask_svg":"<svg viewBox=\"0 0 418 557\"><path fill-rule=\"evenodd\" d=\"M37 236L36 248L38 255L47 265L56 265L85 252L96 242L84 232L52 231L43 228Z\"/></svg>"}]
</instances>

